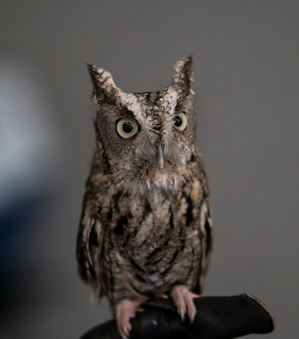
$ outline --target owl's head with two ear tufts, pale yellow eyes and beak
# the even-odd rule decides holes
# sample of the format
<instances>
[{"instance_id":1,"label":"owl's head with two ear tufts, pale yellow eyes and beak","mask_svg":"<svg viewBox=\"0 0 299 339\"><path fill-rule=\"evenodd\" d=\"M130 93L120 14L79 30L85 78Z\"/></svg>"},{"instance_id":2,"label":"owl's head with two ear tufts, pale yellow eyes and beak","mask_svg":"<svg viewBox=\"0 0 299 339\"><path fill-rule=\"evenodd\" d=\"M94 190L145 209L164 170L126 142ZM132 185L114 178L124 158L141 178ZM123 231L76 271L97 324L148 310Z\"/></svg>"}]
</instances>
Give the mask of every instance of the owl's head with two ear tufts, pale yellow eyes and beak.
<instances>
[{"instance_id":1,"label":"owl's head with two ear tufts, pale yellow eyes and beak","mask_svg":"<svg viewBox=\"0 0 299 339\"><path fill-rule=\"evenodd\" d=\"M149 93L124 93L111 74L88 64L98 142L113 166L171 171L186 163L194 142L192 58L175 65L169 87Z\"/></svg>"}]
</instances>

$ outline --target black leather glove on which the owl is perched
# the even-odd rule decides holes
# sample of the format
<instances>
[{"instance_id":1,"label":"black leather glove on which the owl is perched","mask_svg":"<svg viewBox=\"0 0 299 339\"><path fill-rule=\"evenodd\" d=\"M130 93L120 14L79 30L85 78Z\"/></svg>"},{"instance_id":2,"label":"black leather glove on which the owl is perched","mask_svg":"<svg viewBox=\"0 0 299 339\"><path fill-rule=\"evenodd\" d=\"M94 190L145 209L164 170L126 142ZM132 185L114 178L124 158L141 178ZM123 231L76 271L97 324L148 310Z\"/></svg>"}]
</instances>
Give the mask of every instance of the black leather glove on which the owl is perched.
<instances>
[{"instance_id":1,"label":"black leather glove on which the owl is perched","mask_svg":"<svg viewBox=\"0 0 299 339\"><path fill-rule=\"evenodd\" d=\"M131 319L130 339L229 339L250 333L269 333L275 322L268 308L250 294L194 299L197 314L191 325L170 309L142 305ZM81 339L121 339L115 320L97 326Z\"/></svg>"}]
</instances>

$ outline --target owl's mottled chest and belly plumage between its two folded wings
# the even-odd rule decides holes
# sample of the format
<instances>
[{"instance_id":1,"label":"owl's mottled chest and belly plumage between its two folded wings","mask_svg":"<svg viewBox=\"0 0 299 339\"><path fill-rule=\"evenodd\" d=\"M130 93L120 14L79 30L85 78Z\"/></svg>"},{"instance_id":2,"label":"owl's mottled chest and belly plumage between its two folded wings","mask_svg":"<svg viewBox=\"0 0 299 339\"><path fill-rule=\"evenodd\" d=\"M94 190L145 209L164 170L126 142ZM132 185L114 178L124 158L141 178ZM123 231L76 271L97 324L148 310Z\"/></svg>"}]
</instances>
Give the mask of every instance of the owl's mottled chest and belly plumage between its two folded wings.
<instances>
[{"instance_id":1,"label":"owl's mottled chest and belly plumage between its two folded wings","mask_svg":"<svg viewBox=\"0 0 299 339\"><path fill-rule=\"evenodd\" d=\"M142 277L142 287L135 289L143 292L171 285L178 277L185 281L200 258L201 191L193 179L176 192L115 194L104 239L107 267L127 272L125 279L134 286Z\"/></svg>"}]
</instances>

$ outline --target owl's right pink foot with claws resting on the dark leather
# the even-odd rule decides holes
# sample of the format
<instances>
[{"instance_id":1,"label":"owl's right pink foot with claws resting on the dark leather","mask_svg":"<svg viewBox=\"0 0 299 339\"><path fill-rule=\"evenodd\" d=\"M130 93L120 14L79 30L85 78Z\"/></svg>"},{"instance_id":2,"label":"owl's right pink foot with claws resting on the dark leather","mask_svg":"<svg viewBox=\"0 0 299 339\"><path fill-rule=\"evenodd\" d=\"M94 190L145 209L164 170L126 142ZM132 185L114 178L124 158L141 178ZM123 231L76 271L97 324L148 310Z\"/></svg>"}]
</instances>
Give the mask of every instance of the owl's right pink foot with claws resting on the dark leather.
<instances>
[{"instance_id":1,"label":"owl's right pink foot with claws resting on the dark leather","mask_svg":"<svg viewBox=\"0 0 299 339\"><path fill-rule=\"evenodd\" d=\"M185 314L188 308L188 316L192 324L196 315L196 307L193 298L199 297L198 294L192 293L188 290L186 285L176 285L172 288L170 296L177 307L178 314L182 321L185 319Z\"/></svg>"}]
</instances>

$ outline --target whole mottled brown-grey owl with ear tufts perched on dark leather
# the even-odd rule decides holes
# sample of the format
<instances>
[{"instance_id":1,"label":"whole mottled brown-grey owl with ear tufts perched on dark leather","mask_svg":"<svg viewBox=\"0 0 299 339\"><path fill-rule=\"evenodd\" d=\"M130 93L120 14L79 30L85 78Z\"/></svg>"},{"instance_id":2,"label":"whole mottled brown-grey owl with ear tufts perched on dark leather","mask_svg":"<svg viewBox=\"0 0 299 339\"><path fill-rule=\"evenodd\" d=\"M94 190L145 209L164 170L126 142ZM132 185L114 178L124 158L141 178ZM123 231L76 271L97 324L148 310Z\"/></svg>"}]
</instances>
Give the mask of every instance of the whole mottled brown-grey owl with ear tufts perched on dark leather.
<instances>
[{"instance_id":1,"label":"whole mottled brown-grey owl with ear tufts perched on dark leather","mask_svg":"<svg viewBox=\"0 0 299 339\"><path fill-rule=\"evenodd\" d=\"M88 64L96 147L77 237L81 278L107 296L123 338L136 308L172 299L193 322L210 259L207 177L195 146L192 58L175 65L169 87L125 93Z\"/></svg>"}]
</instances>

